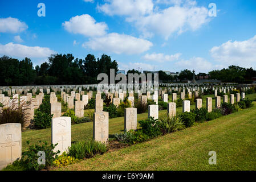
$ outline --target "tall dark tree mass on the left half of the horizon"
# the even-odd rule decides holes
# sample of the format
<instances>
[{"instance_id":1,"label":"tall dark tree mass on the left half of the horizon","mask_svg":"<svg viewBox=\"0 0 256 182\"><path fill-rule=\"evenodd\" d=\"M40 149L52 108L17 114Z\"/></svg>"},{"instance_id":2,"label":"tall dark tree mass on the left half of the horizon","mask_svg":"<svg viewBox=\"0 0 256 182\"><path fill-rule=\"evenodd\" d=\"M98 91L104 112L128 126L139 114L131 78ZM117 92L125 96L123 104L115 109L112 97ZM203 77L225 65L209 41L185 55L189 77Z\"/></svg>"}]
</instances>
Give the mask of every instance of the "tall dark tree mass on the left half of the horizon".
<instances>
[{"instance_id":1,"label":"tall dark tree mass on the left half of the horizon","mask_svg":"<svg viewBox=\"0 0 256 182\"><path fill-rule=\"evenodd\" d=\"M25 58L21 61L11 57L0 57L0 85L63 85L63 84L97 84L97 75L110 69L118 71L116 60L102 55L95 58L88 54L85 59L78 59L72 54L51 55L48 63L36 65Z\"/></svg>"}]
</instances>

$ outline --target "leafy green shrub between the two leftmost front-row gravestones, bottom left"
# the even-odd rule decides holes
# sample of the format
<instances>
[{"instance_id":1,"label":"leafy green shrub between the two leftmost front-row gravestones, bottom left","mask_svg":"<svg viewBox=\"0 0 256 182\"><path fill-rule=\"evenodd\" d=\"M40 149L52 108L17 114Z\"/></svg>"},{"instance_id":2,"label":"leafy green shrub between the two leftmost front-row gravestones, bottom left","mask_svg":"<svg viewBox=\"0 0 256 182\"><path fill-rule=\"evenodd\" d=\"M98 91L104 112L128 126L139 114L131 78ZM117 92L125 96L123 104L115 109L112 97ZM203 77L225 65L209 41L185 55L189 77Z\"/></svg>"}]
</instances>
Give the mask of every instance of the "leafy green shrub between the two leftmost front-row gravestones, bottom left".
<instances>
[{"instance_id":1,"label":"leafy green shrub between the two leftmost front-row gravestones, bottom left","mask_svg":"<svg viewBox=\"0 0 256 182\"><path fill-rule=\"evenodd\" d=\"M29 144L29 141L27 141ZM38 171L42 169L46 169L54 163L54 160L58 157L58 152L54 152L54 148L57 144L48 145L47 142L39 141L39 144L29 145L29 150L22 152L22 158L20 160L21 166L27 171ZM45 165L38 164L38 152L44 151L45 152Z\"/></svg>"}]
</instances>

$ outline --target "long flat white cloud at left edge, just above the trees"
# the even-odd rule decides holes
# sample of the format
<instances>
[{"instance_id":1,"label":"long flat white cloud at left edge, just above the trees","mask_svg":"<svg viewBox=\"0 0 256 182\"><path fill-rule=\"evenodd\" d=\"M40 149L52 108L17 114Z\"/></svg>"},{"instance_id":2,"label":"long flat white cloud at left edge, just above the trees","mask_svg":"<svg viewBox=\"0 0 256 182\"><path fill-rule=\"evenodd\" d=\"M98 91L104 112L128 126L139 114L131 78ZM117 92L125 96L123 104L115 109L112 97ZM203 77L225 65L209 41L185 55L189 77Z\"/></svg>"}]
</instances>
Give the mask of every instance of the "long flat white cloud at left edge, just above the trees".
<instances>
[{"instance_id":1,"label":"long flat white cloud at left edge, just above the trees","mask_svg":"<svg viewBox=\"0 0 256 182\"><path fill-rule=\"evenodd\" d=\"M51 54L55 54L47 47L29 47L22 44L8 43L5 45L0 44L0 55L12 56L12 57L29 57L29 58L39 58L48 57Z\"/></svg>"}]
</instances>

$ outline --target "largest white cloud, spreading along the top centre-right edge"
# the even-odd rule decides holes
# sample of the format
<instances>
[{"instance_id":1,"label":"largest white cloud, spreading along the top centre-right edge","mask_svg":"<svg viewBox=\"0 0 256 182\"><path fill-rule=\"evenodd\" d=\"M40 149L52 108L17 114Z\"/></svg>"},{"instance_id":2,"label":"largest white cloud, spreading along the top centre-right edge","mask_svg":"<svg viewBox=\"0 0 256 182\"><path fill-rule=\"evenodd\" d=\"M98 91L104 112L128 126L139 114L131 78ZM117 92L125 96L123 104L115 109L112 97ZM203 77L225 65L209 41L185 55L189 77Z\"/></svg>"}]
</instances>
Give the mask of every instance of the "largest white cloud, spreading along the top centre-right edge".
<instances>
[{"instance_id":1,"label":"largest white cloud, spreading along the top centre-right edge","mask_svg":"<svg viewBox=\"0 0 256 182\"><path fill-rule=\"evenodd\" d=\"M173 34L184 31L195 31L202 24L209 22L208 9L199 7L192 0L108 0L97 9L107 15L122 15L132 23L143 38L154 35L163 36L166 40ZM165 4L165 9L157 6Z\"/></svg>"}]
</instances>

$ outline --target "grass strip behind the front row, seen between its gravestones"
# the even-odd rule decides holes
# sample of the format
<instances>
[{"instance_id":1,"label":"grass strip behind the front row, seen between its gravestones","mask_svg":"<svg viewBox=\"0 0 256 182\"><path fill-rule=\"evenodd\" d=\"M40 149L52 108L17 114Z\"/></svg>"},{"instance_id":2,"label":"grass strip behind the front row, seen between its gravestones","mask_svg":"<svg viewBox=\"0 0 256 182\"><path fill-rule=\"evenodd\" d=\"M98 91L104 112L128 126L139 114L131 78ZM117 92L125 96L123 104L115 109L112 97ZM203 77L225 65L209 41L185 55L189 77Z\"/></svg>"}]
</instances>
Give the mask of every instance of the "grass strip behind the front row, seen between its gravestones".
<instances>
[{"instance_id":1,"label":"grass strip behind the front row, seen between its gravestones","mask_svg":"<svg viewBox=\"0 0 256 182\"><path fill-rule=\"evenodd\" d=\"M213 97L214 95L204 96L202 107L206 107L206 97ZM256 99L256 94L247 95L251 100ZM215 100L213 100L213 109L215 108ZM190 106L190 110L195 109L195 105ZM92 110L94 111L94 110ZM85 110L84 113L88 113ZM182 107L176 109L176 113L182 113ZM159 111L159 118L163 118L166 115L166 110ZM147 119L148 113L137 114L137 121ZM139 124L138 124L139 126ZM124 117L109 119L109 134L121 133L124 131ZM92 139L92 122L82 123L71 126L71 140L76 142L79 140ZM43 130L27 130L22 132L22 151L25 151L28 147L26 141L29 140L31 144L38 143L39 140L51 142L51 129Z\"/></svg>"}]
</instances>

